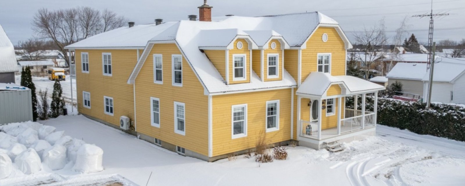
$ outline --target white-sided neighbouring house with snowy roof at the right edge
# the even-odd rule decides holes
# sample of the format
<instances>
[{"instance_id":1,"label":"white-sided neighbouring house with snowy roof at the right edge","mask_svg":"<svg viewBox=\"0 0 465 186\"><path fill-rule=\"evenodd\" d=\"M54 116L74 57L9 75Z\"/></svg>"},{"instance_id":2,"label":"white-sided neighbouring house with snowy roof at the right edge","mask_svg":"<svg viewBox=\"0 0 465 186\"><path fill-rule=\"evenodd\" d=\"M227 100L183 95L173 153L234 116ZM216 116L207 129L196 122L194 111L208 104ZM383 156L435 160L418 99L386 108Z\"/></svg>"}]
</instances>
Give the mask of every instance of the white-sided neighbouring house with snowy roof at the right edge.
<instances>
[{"instance_id":1,"label":"white-sided neighbouring house with snowy roof at the right edge","mask_svg":"<svg viewBox=\"0 0 465 186\"><path fill-rule=\"evenodd\" d=\"M440 61L434 64L431 101L465 104L465 58L442 58ZM424 100L427 100L429 71L422 80Z\"/></svg>"}]
</instances>

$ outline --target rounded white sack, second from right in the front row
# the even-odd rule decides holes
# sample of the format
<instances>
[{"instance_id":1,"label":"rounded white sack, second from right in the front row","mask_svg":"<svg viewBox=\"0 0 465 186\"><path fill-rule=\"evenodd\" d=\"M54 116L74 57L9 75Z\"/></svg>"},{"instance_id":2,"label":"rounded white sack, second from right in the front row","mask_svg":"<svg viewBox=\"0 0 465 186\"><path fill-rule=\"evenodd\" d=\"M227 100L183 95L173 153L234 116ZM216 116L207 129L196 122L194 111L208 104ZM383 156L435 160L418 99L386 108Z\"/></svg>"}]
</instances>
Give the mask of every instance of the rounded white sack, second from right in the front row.
<instances>
[{"instance_id":1,"label":"rounded white sack, second from right in the front row","mask_svg":"<svg viewBox=\"0 0 465 186\"><path fill-rule=\"evenodd\" d=\"M60 170L66 165L66 147L55 144L44 151L42 159L53 171Z\"/></svg>"}]
</instances>

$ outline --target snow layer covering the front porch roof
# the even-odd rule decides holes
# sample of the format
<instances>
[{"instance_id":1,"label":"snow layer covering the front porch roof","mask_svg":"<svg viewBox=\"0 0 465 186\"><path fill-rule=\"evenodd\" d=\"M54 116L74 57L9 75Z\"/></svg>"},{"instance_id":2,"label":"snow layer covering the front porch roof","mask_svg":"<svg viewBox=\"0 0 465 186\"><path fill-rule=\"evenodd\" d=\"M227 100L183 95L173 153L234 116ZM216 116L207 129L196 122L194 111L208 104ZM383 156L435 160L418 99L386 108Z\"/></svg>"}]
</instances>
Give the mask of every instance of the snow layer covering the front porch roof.
<instances>
[{"instance_id":1,"label":"snow layer covering the front porch roof","mask_svg":"<svg viewBox=\"0 0 465 186\"><path fill-rule=\"evenodd\" d=\"M374 92L385 89L384 86L353 76L332 76L329 73L312 72L297 89L297 93L320 97L323 96L326 90L334 84L342 84L345 86L347 88L346 94L361 93L364 91Z\"/></svg>"}]
</instances>

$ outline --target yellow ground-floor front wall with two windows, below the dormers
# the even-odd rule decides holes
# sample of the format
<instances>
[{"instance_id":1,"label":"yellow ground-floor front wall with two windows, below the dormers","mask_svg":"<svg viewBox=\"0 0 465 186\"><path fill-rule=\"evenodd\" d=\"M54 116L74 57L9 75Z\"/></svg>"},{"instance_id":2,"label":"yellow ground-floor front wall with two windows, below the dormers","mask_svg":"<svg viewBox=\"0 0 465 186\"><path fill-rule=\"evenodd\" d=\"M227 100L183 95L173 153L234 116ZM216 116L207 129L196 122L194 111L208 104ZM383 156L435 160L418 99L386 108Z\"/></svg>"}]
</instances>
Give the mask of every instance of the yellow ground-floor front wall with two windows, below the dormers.
<instances>
[{"instance_id":1,"label":"yellow ground-floor front wall with two windows, below the dormers","mask_svg":"<svg viewBox=\"0 0 465 186\"><path fill-rule=\"evenodd\" d=\"M291 90L280 89L252 93L213 96L213 156L255 147L260 136L267 143L290 140ZM266 131L266 101L279 100L279 130ZM247 136L232 139L231 109L247 104Z\"/></svg>"}]
</instances>

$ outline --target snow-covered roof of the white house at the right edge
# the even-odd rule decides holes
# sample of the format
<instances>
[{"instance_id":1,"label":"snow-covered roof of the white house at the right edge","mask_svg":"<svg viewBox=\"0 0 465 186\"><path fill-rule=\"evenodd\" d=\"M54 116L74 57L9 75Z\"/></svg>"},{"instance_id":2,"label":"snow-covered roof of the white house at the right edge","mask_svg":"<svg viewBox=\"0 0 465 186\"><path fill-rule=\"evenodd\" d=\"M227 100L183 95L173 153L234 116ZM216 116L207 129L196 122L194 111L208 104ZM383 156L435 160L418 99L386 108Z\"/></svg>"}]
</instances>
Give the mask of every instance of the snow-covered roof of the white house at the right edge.
<instances>
[{"instance_id":1,"label":"snow-covered roof of the white house at the right edge","mask_svg":"<svg viewBox=\"0 0 465 186\"><path fill-rule=\"evenodd\" d=\"M451 82L465 72L465 58L437 58L434 64L433 82ZM429 70L423 75L422 80L429 81Z\"/></svg>"}]
</instances>

